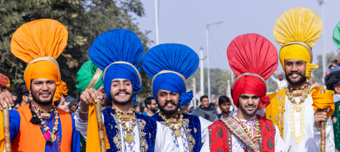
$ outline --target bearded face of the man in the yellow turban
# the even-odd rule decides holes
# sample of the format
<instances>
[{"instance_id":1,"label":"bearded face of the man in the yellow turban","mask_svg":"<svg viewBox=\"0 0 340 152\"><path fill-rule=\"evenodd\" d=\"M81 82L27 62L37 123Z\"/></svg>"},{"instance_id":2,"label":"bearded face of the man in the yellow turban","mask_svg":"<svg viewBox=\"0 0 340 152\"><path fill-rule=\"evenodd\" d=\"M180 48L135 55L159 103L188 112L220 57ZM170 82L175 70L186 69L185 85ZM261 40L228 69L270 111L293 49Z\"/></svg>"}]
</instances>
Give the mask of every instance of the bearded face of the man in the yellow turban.
<instances>
[{"instance_id":1,"label":"bearded face of the man in the yellow turban","mask_svg":"<svg viewBox=\"0 0 340 152\"><path fill-rule=\"evenodd\" d=\"M306 62L299 59L285 60L285 75L290 84L301 84L306 81Z\"/></svg>"}]
</instances>

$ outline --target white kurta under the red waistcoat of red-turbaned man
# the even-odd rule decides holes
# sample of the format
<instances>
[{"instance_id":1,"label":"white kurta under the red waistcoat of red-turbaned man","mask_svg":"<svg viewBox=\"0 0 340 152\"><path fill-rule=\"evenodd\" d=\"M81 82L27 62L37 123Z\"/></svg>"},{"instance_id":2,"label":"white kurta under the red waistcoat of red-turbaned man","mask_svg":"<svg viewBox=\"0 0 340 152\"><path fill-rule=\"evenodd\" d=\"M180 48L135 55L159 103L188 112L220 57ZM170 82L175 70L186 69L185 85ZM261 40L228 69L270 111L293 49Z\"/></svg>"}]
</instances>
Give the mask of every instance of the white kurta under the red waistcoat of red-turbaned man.
<instances>
[{"instance_id":1,"label":"white kurta under the red waistcoat of red-turbaned man","mask_svg":"<svg viewBox=\"0 0 340 152\"><path fill-rule=\"evenodd\" d=\"M234 116L237 113L234 113ZM236 119L239 120L239 119ZM252 118L249 120L239 120L242 122L242 124L245 124L248 128L248 131L251 133L254 138L256 137L256 132L255 132L255 124L256 124L256 118ZM275 152L285 152L286 151L286 146L285 143L283 142L281 136L280 136L280 131L277 126L275 126L275 129L277 130L275 133ZM209 136L205 137L205 141L209 141ZM251 149L247 148L247 146L240 140L238 139L235 135L231 134L231 151L237 151L237 152L250 152L252 151ZM201 152L208 152L210 151L209 148L209 142L208 144L203 144L202 149L200 150ZM302 152L302 151L300 151Z\"/></svg>"}]
</instances>

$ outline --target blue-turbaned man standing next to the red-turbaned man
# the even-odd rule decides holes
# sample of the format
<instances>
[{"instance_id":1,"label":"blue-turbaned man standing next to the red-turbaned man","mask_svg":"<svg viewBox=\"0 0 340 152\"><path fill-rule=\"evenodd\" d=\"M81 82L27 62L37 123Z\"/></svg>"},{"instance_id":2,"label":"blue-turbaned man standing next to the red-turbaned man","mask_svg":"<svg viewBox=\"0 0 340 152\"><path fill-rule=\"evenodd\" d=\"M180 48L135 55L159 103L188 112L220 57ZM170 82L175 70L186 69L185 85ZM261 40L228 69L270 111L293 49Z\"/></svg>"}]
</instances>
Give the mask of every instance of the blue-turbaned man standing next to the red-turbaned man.
<instances>
[{"instance_id":1,"label":"blue-turbaned man standing next to the red-turbaned man","mask_svg":"<svg viewBox=\"0 0 340 152\"><path fill-rule=\"evenodd\" d=\"M171 130L172 138L167 140L175 143L174 151L199 151L211 125L201 117L178 111L193 98L192 90L186 92L185 81L198 64L198 55L180 44L158 45L144 55L143 69L152 79L152 93L160 109L152 118Z\"/></svg>"}]
</instances>

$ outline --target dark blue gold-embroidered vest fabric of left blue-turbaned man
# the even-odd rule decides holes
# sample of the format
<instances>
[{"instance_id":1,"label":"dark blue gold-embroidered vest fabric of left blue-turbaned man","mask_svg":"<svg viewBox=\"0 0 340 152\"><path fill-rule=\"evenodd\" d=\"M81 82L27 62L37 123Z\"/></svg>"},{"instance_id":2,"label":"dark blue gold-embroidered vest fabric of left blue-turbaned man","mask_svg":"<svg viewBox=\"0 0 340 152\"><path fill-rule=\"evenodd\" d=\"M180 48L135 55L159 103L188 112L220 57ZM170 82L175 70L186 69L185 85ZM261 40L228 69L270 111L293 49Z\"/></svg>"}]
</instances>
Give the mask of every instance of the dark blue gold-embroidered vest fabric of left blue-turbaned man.
<instances>
[{"instance_id":1,"label":"dark blue gold-embroidered vest fabric of left blue-turbaned man","mask_svg":"<svg viewBox=\"0 0 340 152\"><path fill-rule=\"evenodd\" d=\"M104 115L104 126L105 126L105 130L106 130L106 134L108 136L109 139L109 143L110 143L110 149L107 149L107 152L110 151L123 151L118 149L118 145L115 144L114 140L117 140L118 143L118 138L115 138L115 136L118 133L118 128L120 125L116 123L113 115L115 115L115 111L112 108L106 108L103 111L103 115ZM144 120L145 126L144 126L144 132L145 134L145 139L146 142L148 144L148 150L146 150L146 152L153 152L155 150L155 140L156 140L156 132L157 132L157 124L156 121L154 119L152 119L151 117L148 116L144 116L138 113L135 113L135 117L136 120L138 122L140 122L141 120ZM118 121L118 118L117 118ZM141 123L137 123L136 125L138 125L138 127L140 127ZM122 129L120 130L122 131ZM141 131L141 129L140 129ZM118 134L119 138L120 138L120 132ZM134 140L140 140L140 139L134 139ZM120 143L124 142L124 139L121 139ZM132 144L132 143L131 143ZM142 143L141 143L142 144ZM120 145L121 148L122 145ZM142 145L141 145L142 146Z\"/></svg>"}]
</instances>

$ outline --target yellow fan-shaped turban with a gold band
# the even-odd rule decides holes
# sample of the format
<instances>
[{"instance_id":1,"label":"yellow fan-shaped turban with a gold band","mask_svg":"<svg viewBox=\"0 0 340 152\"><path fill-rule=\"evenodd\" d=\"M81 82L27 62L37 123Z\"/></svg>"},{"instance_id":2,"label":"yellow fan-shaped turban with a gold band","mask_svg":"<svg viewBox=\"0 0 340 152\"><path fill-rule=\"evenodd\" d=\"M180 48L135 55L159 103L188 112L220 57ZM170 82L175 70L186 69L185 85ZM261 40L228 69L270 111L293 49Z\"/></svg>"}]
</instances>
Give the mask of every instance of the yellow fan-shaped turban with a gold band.
<instances>
[{"instance_id":1,"label":"yellow fan-shaped turban with a gold band","mask_svg":"<svg viewBox=\"0 0 340 152\"><path fill-rule=\"evenodd\" d=\"M312 47L320 39L322 21L308 8L293 8L283 13L274 25L274 39L281 46L280 62L285 70L286 59L307 62L305 77L311 80L314 68Z\"/></svg>"}]
</instances>

